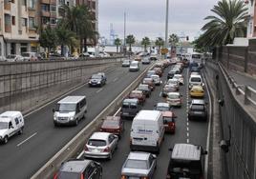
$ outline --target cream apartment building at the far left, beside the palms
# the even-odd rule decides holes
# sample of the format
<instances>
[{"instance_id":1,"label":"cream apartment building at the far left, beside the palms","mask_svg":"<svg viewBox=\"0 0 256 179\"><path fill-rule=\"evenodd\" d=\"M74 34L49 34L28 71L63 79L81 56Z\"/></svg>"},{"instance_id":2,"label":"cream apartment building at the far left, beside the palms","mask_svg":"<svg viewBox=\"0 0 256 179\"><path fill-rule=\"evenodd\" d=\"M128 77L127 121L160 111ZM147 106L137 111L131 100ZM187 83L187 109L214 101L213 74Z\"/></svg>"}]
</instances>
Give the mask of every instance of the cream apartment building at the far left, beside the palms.
<instances>
[{"instance_id":1,"label":"cream apartment building at the far left, beside the palms","mask_svg":"<svg viewBox=\"0 0 256 179\"><path fill-rule=\"evenodd\" d=\"M0 56L36 51L34 0L0 0Z\"/></svg>"}]
</instances>

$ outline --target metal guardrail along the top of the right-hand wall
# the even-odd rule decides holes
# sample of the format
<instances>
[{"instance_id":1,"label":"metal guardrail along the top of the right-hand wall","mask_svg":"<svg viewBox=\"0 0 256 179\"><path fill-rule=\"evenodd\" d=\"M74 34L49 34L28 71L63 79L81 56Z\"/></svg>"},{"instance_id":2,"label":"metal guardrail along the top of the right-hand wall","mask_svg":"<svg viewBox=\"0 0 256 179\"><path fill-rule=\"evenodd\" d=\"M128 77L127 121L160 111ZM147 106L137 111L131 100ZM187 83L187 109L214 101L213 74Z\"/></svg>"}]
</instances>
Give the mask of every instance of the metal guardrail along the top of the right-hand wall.
<instances>
[{"instance_id":1,"label":"metal guardrail along the top of the right-hand wall","mask_svg":"<svg viewBox=\"0 0 256 179\"><path fill-rule=\"evenodd\" d=\"M228 79L229 84L233 89L236 90L236 95L244 95L244 104L245 105L254 105L256 107L256 89L253 89L250 86L239 85L236 80L229 75L229 73L224 69L221 63L218 63L220 69L224 72L225 76Z\"/></svg>"}]
</instances>

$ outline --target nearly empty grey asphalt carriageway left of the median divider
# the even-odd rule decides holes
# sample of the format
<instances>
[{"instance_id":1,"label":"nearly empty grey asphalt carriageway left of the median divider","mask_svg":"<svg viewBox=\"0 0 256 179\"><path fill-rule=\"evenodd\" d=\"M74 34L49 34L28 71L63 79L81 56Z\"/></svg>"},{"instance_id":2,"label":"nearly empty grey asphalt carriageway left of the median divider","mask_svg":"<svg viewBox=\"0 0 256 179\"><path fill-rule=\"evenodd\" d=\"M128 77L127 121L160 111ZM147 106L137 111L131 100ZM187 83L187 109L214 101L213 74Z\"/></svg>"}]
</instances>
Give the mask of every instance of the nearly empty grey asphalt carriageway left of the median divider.
<instances>
[{"instance_id":1,"label":"nearly empty grey asphalt carriageway left of the median divider","mask_svg":"<svg viewBox=\"0 0 256 179\"><path fill-rule=\"evenodd\" d=\"M0 145L0 178L30 178L146 67L142 66L139 72L129 72L127 68L119 67L107 73L106 86L102 88L84 86L73 91L70 95L86 95L88 102L86 119L80 121L77 127L53 127L52 109L55 102L26 117L24 133L12 137L7 145Z\"/></svg>"}]
</instances>

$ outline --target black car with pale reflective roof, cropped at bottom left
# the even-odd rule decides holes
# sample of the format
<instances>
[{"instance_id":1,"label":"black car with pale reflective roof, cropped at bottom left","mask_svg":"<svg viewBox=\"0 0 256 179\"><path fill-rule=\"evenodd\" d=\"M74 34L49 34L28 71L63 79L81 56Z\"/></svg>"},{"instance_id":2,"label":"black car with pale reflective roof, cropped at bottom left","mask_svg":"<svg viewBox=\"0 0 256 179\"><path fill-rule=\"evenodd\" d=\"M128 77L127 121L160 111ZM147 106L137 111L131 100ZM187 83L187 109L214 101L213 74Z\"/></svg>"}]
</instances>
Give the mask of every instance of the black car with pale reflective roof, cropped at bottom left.
<instances>
[{"instance_id":1,"label":"black car with pale reflective roof, cropped at bottom left","mask_svg":"<svg viewBox=\"0 0 256 179\"><path fill-rule=\"evenodd\" d=\"M102 178L102 167L92 160L70 159L64 162L54 179L99 179Z\"/></svg>"}]
</instances>

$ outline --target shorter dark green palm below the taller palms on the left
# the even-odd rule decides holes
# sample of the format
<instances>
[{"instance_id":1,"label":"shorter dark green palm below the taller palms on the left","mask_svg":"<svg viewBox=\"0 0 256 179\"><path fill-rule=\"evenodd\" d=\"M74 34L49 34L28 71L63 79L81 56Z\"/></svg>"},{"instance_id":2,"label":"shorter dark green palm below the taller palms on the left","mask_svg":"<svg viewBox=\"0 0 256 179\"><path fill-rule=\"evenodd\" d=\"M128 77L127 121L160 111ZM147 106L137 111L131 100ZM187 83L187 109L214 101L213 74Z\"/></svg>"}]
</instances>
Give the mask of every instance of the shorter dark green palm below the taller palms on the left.
<instances>
[{"instance_id":1,"label":"shorter dark green palm below the taller palms on the left","mask_svg":"<svg viewBox=\"0 0 256 179\"><path fill-rule=\"evenodd\" d=\"M64 46L75 46L75 32L59 26L56 28L56 36L61 46L61 55L64 55Z\"/></svg>"}]
</instances>

